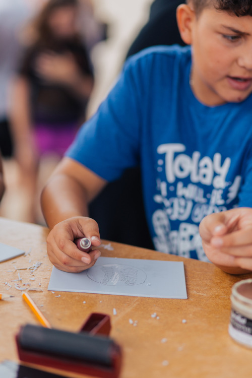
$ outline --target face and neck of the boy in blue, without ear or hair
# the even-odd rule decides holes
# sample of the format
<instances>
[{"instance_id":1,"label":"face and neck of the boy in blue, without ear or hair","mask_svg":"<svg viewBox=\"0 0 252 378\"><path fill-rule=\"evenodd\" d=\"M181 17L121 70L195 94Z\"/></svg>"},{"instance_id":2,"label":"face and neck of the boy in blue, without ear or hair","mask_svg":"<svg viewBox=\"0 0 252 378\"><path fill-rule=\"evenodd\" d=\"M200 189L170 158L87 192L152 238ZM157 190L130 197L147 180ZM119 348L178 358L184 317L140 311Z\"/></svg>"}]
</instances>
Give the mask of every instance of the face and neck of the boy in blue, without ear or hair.
<instances>
[{"instance_id":1,"label":"face and neck of the boy in blue, without ear or hair","mask_svg":"<svg viewBox=\"0 0 252 378\"><path fill-rule=\"evenodd\" d=\"M243 101L252 92L252 17L205 8L193 17L192 88L206 105Z\"/></svg>"}]
</instances>

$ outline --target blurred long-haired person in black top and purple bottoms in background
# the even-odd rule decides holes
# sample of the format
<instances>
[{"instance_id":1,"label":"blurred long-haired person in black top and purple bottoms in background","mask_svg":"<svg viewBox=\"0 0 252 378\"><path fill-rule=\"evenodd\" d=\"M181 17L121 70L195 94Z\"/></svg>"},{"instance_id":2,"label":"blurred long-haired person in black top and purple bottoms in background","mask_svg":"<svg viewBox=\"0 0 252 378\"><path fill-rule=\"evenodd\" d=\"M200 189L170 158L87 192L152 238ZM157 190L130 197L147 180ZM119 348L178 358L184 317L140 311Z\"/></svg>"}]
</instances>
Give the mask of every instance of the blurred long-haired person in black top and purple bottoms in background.
<instances>
[{"instance_id":1,"label":"blurred long-haired person in black top and purple bottoms in background","mask_svg":"<svg viewBox=\"0 0 252 378\"><path fill-rule=\"evenodd\" d=\"M13 83L15 157L30 193L31 222L37 220L39 163L44 156L60 159L65 153L85 119L93 89L92 67L78 29L79 6L78 0L45 3Z\"/></svg>"}]
</instances>

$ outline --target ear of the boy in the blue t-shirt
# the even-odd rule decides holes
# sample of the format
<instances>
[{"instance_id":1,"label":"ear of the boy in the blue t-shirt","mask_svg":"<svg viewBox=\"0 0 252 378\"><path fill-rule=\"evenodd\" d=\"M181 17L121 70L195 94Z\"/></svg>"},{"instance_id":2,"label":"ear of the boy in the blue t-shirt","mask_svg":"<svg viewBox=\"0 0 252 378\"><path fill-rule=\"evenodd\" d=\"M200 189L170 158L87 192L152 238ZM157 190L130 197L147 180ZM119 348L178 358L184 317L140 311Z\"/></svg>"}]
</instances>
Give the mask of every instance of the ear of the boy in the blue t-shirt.
<instances>
[{"instance_id":1,"label":"ear of the boy in the blue t-shirt","mask_svg":"<svg viewBox=\"0 0 252 378\"><path fill-rule=\"evenodd\" d=\"M177 26L180 36L187 45L192 44L192 24L195 20L195 12L187 5L180 4L177 7Z\"/></svg>"}]
</instances>

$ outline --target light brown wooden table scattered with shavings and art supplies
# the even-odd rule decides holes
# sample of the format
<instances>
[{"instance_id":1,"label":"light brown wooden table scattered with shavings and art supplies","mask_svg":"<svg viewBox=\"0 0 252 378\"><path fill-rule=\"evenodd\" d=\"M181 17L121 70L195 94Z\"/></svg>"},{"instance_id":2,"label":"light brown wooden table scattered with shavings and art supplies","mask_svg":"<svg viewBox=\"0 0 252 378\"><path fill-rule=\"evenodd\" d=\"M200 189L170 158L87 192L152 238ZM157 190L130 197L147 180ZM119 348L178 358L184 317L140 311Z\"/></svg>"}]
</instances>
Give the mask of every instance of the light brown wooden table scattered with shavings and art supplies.
<instances>
[{"instance_id":1,"label":"light brown wooden table scattered with shavings and art supplies","mask_svg":"<svg viewBox=\"0 0 252 378\"><path fill-rule=\"evenodd\" d=\"M188 299L53 294L47 291L52 269L46 255L47 234L44 227L0 218L0 242L27 252L26 256L0 264L0 292L14 295L0 301L0 361L18 361L14 335L21 325L38 325L22 299L21 291L12 282L18 279L19 272L22 283L43 290L29 291L29 294L52 327L75 332L91 312L110 315L110 336L123 349L121 378L252 376L252 350L236 344L228 335L231 287L252 275L231 276L212 264L112 242L113 250L100 248L102 256L183 261ZM108 244L107 241L103 243ZM34 272L34 281L30 280L30 269L16 270L29 268L37 262L42 264ZM57 294L60 297L56 297ZM116 308L116 315L113 315L113 308ZM154 312L159 319L151 317ZM137 326L130 324L129 319L137 320ZM165 338L167 341L162 342Z\"/></svg>"}]
</instances>

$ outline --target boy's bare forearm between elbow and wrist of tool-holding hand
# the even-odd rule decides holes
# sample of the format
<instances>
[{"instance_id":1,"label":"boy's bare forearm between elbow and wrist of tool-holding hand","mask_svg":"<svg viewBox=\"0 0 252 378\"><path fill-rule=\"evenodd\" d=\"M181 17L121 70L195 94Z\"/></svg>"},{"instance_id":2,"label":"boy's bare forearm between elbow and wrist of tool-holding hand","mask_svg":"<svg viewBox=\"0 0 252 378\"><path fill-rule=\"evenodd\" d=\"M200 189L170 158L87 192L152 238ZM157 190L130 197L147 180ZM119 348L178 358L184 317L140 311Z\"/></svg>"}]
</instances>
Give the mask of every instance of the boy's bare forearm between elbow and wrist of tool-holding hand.
<instances>
[{"instance_id":1,"label":"boy's bare forearm between elbow and wrist of tool-holding hand","mask_svg":"<svg viewBox=\"0 0 252 378\"><path fill-rule=\"evenodd\" d=\"M41 195L41 207L51 229L68 218L88 216L84 187L74 178L64 174L53 176Z\"/></svg>"}]
</instances>

